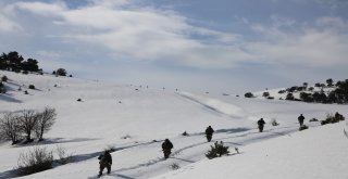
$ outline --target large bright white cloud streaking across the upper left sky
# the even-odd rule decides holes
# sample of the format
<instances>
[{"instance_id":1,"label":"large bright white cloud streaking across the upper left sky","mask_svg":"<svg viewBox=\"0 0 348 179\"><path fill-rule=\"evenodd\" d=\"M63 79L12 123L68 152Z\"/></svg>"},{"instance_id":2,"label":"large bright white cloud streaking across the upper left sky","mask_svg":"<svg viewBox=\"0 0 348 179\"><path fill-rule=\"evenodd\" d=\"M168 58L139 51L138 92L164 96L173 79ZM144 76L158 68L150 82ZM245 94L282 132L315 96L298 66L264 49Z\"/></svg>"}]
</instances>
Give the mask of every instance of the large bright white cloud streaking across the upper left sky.
<instances>
[{"instance_id":1,"label":"large bright white cloud streaking across the upper left sky","mask_svg":"<svg viewBox=\"0 0 348 179\"><path fill-rule=\"evenodd\" d=\"M17 3L17 8L39 15L54 15L60 21L58 25L71 29L61 35L62 38L104 46L117 56L170 60L202 68L226 68L234 66L235 61L249 57L239 48L228 46L238 39L237 36L191 26L173 11L149 7L124 9L127 1L111 7L112 1L96 2L75 10L66 10L61 3L42 2Z\"/></svg>"}]
</instances>

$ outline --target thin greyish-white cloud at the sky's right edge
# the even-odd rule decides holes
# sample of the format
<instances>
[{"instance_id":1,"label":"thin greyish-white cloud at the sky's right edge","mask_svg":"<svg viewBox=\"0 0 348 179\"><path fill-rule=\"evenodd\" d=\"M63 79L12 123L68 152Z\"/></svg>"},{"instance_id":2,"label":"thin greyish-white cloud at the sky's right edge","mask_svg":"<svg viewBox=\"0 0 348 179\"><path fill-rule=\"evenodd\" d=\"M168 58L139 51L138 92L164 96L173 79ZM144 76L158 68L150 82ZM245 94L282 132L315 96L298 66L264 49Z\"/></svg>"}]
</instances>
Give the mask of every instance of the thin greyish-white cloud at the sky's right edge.
<instances>
[{"instance_id":1,"label":"thin greyish-white cloud at the sky's right edge","mask_svg":"<svg viewBox=\"0 0 348 179\"><path fill-rule=\"evenodd\" d=\"M250 24L262 38L248 42L247 49L260 63L291 64L308 67L348 65L348 23L339 17L320 17L311 25L278 18L265 26ZM284 25L290 28L283 29Z\"/></svg>"}]
</instances>

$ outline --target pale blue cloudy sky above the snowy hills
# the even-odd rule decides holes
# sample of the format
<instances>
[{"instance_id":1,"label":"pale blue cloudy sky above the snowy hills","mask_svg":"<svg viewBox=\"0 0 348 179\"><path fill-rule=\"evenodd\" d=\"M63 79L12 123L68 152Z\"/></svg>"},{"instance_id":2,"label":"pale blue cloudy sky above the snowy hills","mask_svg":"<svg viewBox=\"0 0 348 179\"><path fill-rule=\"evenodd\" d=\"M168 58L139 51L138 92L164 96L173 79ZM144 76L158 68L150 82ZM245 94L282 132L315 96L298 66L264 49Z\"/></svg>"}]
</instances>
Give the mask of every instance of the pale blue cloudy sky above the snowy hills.
<instances>
[{"instance_id":1,"label":"pale blue cloudy sky above the snowy hills","mask_svg":"<svg viewBox=\"0 0 348 179\"><path fill-rule=\"evenodd\" d=\"M87 79L239 93L348 78L348 0L1 0L0 50Z\"/></svg>"}]
</instances>

